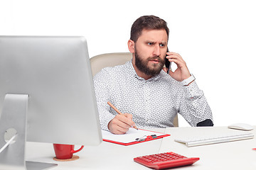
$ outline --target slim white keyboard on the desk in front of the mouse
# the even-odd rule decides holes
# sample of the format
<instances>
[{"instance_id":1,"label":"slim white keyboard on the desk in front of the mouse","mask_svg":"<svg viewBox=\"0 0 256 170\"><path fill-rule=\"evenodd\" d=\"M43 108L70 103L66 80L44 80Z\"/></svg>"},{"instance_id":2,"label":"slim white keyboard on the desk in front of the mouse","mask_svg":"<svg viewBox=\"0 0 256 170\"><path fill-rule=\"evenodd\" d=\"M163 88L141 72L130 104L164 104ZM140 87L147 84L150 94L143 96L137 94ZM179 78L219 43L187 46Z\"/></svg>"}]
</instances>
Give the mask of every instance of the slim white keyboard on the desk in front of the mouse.
<instances>
[{"instance_id":1,"label":"slim white keyboard on the desk in front of the mouse","mask_svg":"<svg viewBox=\"0 0 256 170\"><path fill-rule=\"evenodd\" d=\"M236 140L249 140L252 139L254 135L252 133L237 133L237 134L225 134L225 135L218 135L212 137L192 137L176 139L174 141L184 143L187 147L194 147L200 145L210 145L222 142L232 142Z\"/></svg>"}]
</instances>

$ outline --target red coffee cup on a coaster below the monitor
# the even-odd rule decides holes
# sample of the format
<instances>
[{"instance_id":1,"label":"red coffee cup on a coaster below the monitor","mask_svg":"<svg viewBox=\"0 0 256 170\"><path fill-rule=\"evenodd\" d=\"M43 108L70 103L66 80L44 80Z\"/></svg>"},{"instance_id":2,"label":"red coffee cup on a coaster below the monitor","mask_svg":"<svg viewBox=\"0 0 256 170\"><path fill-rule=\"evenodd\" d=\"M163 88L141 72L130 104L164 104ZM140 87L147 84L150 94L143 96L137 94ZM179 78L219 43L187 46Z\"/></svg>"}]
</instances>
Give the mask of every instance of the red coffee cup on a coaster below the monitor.
<instances>
[{"instance_id":1,"label":"red coffee cup on a coaster below the monitor","mask_svg":"<svg viewBox=\"0 0 256 170\"><path fill-rule=\"evenodd\" d=\"M55 155L57 159L71 159L73 154L80 152L84 146L80 147L78 150L75 149L75 145L63 145L63 144L53 144Z\"/></svg>"}]
</instances>

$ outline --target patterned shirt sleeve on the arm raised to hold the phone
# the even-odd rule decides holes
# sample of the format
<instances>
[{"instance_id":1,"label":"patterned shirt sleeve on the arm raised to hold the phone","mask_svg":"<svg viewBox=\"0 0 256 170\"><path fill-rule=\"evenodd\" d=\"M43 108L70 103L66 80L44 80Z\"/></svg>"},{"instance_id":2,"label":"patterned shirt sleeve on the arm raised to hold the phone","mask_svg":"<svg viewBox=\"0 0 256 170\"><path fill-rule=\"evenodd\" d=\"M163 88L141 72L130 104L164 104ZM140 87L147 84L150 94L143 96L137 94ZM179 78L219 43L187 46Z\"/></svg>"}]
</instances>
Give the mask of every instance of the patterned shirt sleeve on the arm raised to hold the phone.
<instances>
[{"instance_id":1,"label":"patterned shirt sleeve on the arm raised to hold the phone","mask_svg":"<svg viewBox=\"0 0 256 170\"><path fill-rule=\"evenodd\" d=\"M182 86L182 85L181 85ZM196 126L203 120L210 119L213 121L213 115L210 106L206 101L206 97L198 88L196 81L188 86L182 86L181 105L179 113L186 119L191 126Z\"/></svg>"}]
</instances>

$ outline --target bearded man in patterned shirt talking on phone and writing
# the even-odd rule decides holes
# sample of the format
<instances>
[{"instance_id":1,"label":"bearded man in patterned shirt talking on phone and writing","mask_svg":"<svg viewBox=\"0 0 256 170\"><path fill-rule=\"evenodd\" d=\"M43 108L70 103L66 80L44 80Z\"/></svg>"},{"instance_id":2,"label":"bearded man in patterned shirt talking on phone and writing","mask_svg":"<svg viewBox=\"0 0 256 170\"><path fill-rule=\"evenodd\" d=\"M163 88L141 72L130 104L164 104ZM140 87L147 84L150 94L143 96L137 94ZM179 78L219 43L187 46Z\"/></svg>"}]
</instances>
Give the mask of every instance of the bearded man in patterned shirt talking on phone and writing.
<instances>
[{"instance_id":1,"label":"bearded man in patterned shirt talking on phone and writing","mask_svg":"<svg viewBox=\"0 0 256 170\"><path fill-rule=\"evenodd\" d=\"M132 25L128 41L132 61L107 67L95 75L95 94L102 129L124 134L138 128L172 127L177 113L191 126L213 125L210 107L186 62L166 52L169 28L156 16L142 16ZM165 60L177 65L166 74ZM122 115L110 106L110 101Z\"/></svg>"}]
</instances>

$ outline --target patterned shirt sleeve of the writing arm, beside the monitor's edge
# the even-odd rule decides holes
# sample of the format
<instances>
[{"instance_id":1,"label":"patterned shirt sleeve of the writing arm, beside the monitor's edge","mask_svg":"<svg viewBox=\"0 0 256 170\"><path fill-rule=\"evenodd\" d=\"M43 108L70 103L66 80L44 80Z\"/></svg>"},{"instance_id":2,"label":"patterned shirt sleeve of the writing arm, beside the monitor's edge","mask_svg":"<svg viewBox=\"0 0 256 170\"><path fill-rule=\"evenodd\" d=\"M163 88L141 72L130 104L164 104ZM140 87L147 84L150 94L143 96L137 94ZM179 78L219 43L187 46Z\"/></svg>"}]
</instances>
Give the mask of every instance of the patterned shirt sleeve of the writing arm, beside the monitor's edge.
<instances>
[{"instance_id":1,"label":"patterned shirt sleeve of the writing arm, beside the monitor's edge","mask_svg":"<svg viewBox=\"0 0 256 170\"><path fill-rule=\"evenodd\" d=\"M103 69L93 78L97 108L100 115L100 125L102 130L109 130L107 125L115 116L110 113L110 106L107 104L107 101L110 101L110 94L108 90L110 87L110 80L106 78L107 74L108 73Z\"/></svg>"}]
</instances>

